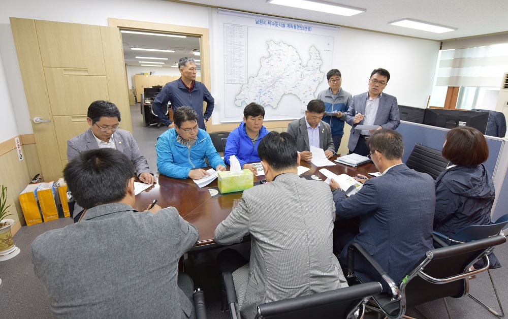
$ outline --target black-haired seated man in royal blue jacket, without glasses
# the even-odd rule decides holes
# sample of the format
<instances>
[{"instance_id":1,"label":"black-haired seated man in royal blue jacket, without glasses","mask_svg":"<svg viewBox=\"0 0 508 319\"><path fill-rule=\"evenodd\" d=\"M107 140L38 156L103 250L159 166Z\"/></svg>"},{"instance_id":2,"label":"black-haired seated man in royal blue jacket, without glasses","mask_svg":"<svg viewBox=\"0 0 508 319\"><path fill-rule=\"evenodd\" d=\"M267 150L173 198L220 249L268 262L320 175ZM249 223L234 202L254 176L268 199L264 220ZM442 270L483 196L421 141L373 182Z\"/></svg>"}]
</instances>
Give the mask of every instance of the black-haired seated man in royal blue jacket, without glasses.
<instances>
[{"instance_id":1,"label":"black-haired seated man in royal blue jacket, without glasses","mask_svg":"<svg viewBox=\"0 0 508 319\"><path fill-rule=\"evenodd\" d=\"M248 169L257 174L257 169L248 163L260 162L258 145L263 136L268 134L263 126L265 108L256 103L250 103L243 109L243 121L228 136L224 161L231 165L229 157L235 155L242 169Z\"/></svg>"}]
</instances>

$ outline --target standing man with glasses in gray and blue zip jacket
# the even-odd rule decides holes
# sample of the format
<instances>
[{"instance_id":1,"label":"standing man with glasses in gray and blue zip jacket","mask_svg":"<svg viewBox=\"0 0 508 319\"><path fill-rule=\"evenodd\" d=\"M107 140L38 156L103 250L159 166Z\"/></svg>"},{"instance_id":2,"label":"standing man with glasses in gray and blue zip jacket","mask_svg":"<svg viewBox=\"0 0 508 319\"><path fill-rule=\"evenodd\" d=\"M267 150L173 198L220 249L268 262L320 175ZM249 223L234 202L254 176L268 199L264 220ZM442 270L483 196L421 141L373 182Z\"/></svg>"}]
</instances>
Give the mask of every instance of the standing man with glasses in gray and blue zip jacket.
<instances>
[{"instance_id":1,"label":"standing man with glasses in gray and blue zip jacket","mask_svg":"<svg viewBox=\"0 0 508 319\"><path fill-rule=\"evenodd\" d=\"M335 145L335 152L338 151L340 141L344 135L344 120L346 112L351 103L352 95L342 89L342 75L337 69L332 69L326 74L330 88L317 94L317 100L325 102L325 112L335 113L335 115L326 115L323 121L330 124L332 130L332 141Z\"/></svg>"}]
</instances>

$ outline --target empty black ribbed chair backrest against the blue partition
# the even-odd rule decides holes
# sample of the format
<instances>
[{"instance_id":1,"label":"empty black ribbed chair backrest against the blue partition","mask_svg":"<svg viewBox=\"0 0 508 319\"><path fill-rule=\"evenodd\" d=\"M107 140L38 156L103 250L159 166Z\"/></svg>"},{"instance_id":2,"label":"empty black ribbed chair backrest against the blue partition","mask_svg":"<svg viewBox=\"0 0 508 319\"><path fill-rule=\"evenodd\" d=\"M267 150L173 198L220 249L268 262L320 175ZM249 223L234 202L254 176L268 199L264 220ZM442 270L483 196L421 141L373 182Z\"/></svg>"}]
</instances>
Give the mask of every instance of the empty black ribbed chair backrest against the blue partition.
<instances>
[{"instance_id":1,"label":"empty black ribbed chair backrest against the blue partition","mask_svg":"<svg viewBox=\"0 0 508 319\"><path fill-rule=\"evenodd\" d=\"M436 179L447 168L448 161L442 157L440 150L416 144L405 164L410 169L427 173Z\"/></svg>"}]
</instances>

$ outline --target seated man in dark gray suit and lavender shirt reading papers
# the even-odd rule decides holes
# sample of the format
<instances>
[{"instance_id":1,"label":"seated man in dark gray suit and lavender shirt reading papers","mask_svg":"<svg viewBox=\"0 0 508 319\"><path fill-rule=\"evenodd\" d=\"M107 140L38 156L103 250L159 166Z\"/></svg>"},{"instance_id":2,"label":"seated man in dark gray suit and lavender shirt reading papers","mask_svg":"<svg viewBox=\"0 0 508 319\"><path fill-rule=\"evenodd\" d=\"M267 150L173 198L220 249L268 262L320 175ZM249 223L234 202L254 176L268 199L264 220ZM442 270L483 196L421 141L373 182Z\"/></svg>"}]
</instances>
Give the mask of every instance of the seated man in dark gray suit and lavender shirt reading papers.
<instances>
[{"instance_id":1,"label":"seated man in dark gray suit and lavender shirt reading papers","mask_svg":"<svg viewBox=\"0 0 508 319\"><path fill-rule=\"evenodd\" d=\"M311 100L307 104L305 116L292 121L288 125L288 133L295 139L296 148L300 152L303 161L311 161L311 145L322 148L327 158L335 154L332 130L330 124L322 121L324 115L325 103L321 100Z\"/></svg>"}]
</instances>

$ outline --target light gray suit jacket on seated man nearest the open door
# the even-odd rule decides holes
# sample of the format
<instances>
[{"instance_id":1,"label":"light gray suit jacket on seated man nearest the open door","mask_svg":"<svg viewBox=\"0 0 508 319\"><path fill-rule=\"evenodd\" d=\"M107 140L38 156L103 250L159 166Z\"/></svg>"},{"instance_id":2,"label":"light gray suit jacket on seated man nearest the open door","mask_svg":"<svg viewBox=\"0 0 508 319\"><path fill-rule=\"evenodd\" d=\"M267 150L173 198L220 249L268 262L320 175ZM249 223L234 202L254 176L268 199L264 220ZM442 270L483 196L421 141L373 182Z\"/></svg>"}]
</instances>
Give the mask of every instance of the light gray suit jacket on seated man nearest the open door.
<instances>
[{"instance_id":1,"label":"light gray suit jacket on seated man nearest the open door","mask_svg":"<svg viewBox=\"0 0 508 319\"><path fill-rule=\"evenodd\" d=\"M141 173L145 172L153 175L152 171L148 168L145 157L139 151L138 144L136 144L136 140L134 140L131 132L118 129L113 133L113 139L115 140L116 149L131 159L138 177ZM96 148L99 148L97 140L92 130L88 129L67 141L67 160L71 161L79 153ZM74 217L75 214L78 214L82 210L83 207L77 203L74 204L74 212L72 212L71 217Z\"/></svg>"}]
</instances>

